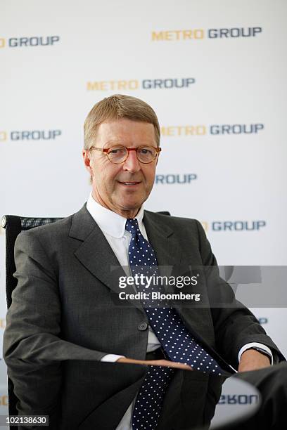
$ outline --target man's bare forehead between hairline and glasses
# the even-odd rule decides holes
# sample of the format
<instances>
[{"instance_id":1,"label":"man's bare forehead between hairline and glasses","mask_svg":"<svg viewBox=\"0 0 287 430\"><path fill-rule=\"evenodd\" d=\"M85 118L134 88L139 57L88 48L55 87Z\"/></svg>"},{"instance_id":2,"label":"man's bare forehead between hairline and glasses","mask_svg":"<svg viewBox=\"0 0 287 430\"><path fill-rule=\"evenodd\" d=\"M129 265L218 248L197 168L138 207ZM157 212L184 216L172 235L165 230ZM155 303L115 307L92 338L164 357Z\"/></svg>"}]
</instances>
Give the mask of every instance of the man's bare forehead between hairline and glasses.
<instances>
[{"instance_id":1,"label":"man's bare forehead between hairline and glasses","mask_svg":"<svg viewBox=\"0 0 287 430\"><path fill-rule=\"evenodd\" d=\"M110 142L136 146L155 145L155 129L148 122L121 118L100 124L97 138L103 145Z\"/></svg>"}]
</instances>

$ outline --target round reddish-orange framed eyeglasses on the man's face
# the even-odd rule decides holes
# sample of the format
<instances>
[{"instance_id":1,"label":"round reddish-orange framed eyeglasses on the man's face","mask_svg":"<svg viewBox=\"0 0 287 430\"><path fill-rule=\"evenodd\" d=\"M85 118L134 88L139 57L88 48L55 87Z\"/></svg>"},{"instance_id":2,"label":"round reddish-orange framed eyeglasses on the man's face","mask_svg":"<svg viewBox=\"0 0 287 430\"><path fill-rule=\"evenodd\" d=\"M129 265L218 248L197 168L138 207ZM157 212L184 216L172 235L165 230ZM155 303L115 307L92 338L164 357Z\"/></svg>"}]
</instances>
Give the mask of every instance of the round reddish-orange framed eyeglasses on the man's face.
<instances>
[{"instance_id":1,"label":"round reddish-orange framed eyeglasses on the man's face","mask_svg":"<svg viewBox=\"0 0 287 430\"><path fill-rule=\"evenodd\" d=\"M139 148L126 148L125 146L96 148L95 146L91 146L90 150L93 149L106 154L113 164L124 163L127 157L129 157L129 151L136 151L136 157L139 162L144 164L152 163L161 151L161 148L154 148L153 146L139 146Z\"/></svg>"}]
</instances>

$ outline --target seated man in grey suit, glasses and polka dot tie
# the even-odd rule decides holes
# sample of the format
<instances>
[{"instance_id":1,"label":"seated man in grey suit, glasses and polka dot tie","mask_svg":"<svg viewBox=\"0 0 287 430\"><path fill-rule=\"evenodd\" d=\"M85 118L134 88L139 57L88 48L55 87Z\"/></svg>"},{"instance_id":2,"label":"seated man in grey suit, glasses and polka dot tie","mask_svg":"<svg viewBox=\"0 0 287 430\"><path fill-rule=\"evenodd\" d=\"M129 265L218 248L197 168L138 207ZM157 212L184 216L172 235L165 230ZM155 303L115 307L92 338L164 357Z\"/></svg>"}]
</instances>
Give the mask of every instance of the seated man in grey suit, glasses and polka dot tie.
<instances>
[{"instance_id":1,"label":"seated man in grey suit, glasses and polka dot tie","mask_svg":"<svg viewBox=\"0 0 287 430\"><path fill-rule=\"evenodd\" d=\"M19 414L49 415L51 429L208 425L224 372L265 371L274 358L283 360L254 315L233 307L231 289L218 283L200 223L144 211L159 144L158 119L144 101L122 95L101 100L84 124L92 185L87 204L20 234L15 244L18 286L4 357ZM213 266L215 283L203 285L200 294L208 304L215 292L230 306L120 304L119 273L130 266L139 274L144 261L153 273L158 266L178 274Z\"/></svg>"}]
</instances>

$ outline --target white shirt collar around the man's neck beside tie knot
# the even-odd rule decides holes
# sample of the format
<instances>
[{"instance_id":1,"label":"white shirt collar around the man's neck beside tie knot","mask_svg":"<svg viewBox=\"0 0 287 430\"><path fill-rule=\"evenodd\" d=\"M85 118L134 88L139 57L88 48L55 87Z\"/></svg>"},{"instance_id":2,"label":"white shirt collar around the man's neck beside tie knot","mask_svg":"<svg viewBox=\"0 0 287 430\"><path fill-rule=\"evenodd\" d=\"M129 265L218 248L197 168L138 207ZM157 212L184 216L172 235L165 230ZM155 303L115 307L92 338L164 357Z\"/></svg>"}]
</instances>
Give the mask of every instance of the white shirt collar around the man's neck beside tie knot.
<instances>
[{"instance_id":1,"label":"white shirt collar around the man's neck beside tie knot","mask_svg":"<svg viewBox=\"0 0 287 430\"><path fill-rule=\"evenodd\" d=\"M87 201L87 210L94 218L99 228L104 233L107 233L113 237L123 237L125 234L125 225L127 219L124 216L116 214L110 209L103 207L101 204L94 200L94 197L89 195L89 199ZM143 218L144 218L144 205L141 205L141 209L136 214L135 218L139 223L139 230L143 231Z\"/></svg>"}]
</instances>

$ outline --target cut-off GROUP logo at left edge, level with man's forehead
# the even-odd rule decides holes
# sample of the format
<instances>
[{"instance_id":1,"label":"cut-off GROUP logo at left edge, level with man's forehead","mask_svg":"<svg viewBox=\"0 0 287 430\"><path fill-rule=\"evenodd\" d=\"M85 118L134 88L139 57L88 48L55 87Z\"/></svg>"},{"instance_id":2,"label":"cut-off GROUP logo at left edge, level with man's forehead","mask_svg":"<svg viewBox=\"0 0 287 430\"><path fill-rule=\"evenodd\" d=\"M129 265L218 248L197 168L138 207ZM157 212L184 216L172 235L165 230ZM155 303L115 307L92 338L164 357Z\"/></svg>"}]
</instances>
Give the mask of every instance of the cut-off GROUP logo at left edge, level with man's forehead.
<instances>
[{"instance_id":1,"label":"cut-off GROUP logo at left edge, level with man's forehead","mask_svg":"<svg viewBox=\"0 0 287 430\"><path fill-rule=\"evenodd\" d=\"M61 136L61 130L13 130L0 131L0 142L5 141L53 141Z\"/></svg>"}]
</instances>

